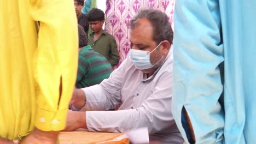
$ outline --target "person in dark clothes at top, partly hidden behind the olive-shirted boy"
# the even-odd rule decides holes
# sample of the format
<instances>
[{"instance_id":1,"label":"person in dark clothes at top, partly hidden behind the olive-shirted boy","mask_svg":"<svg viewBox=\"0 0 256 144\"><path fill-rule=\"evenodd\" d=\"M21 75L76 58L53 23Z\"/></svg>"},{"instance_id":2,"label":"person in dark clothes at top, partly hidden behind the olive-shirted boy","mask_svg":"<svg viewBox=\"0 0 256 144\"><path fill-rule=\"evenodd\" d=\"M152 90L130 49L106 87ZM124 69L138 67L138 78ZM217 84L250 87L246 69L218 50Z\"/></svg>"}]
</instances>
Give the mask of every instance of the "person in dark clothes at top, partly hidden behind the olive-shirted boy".
<instances>
[{"instance_id":1,"label":"person in dark clothes at top, partly hidden behind the olive-shirted boy","mask_svg":"<svg viewBox=\"0 0 256 144\"><path fill-rule=\"evenodd\" d=\"M84 28L86 36L89 30L89 21L86 14L82 13L82 8L84 7L84 0L74 0L75 13L77 14L77 21L80 26Z\"/></svg>"}]
</instances>

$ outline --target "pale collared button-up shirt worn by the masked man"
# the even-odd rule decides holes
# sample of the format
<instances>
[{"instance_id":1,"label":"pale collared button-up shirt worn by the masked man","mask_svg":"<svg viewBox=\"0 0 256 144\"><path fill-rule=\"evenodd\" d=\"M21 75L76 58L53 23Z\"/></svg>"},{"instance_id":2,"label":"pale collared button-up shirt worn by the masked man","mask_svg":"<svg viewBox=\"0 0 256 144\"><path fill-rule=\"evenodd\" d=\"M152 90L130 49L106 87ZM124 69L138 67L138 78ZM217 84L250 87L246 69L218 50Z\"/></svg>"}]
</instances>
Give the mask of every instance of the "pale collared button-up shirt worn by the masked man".
<instances>
[{"instance_id":1,"label":"pale collared button-up shirt worn by the masked man","mask_svg":"<svg viewBox=\"0 0 256 144\"><path fill-rule=\"evenodd\" d=\"M148 78L127 57L109 79L83 91L89 131L123 133L148 127L152 141L183 143L171 113L172 49L162 67ZM120 103L118 111L107 111Z\"/></svg>"}]
</instances>

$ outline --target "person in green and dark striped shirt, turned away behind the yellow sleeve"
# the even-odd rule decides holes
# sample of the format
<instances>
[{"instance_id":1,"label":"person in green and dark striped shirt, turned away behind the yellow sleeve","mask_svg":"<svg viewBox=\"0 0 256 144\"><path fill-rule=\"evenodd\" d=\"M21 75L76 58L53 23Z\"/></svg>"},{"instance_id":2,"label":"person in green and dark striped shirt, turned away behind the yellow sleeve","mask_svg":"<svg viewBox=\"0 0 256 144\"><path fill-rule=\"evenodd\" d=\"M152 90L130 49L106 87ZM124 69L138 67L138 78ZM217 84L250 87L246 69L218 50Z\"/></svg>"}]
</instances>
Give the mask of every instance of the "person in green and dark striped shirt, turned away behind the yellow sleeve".
<instances>
[{"instance_id":1,"label":"person in green and dark striped shirt, turned away behind the yellow sleeve","mask_svg":"<svg viewBox=\"0 0 256 144\"><path fill-rule=\"evenodd\" d=\"M90 45L87 45L86 33L80 25L78 25L78 33L79 62L75 87L84 88L101 83L109 77L113 69L104 56L92 50Z\"/></svg>"}]
</instances>

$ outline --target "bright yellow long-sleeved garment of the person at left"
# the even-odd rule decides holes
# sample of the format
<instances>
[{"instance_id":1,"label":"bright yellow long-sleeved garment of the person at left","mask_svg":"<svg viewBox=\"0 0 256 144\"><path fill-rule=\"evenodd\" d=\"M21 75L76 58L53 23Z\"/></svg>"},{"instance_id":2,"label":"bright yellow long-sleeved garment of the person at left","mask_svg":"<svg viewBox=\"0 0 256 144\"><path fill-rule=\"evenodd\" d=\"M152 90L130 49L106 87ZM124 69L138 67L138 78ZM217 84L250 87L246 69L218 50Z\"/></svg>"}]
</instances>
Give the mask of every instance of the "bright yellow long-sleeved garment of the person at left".
<instances>
[{"instance_id":1,"label":"bright yellow long-sleeved garment of the person at left","mask_svg":"<svg viewBox=\"0 0 256 144\"><path fill-rule=\"evenodd\" d=\"M72 0L0 1L0 136L65 128L77 63Z\"/></svg>"}]
</instances>

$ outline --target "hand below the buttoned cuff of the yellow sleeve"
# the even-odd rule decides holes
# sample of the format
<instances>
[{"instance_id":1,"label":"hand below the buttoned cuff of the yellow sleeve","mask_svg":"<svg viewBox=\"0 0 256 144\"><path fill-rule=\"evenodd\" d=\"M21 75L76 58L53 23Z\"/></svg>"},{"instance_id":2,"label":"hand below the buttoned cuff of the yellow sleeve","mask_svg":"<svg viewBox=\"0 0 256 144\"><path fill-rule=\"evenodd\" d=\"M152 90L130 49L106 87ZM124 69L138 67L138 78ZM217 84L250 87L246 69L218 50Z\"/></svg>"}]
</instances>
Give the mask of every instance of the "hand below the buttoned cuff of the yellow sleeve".
<instances>
[{"instance_id":1,"label":"hand below the buttoned cuff of the yellow sleeve","mask_svg":"<svg viewBox=\"0 0 256 144\"><path fill-rule=\"evenodd\" d=\"M30 135L28 135L22 143L25 144L55 144L57 141L59 131L42 131L35 128Z\"/></svg>"}]
</instances>

